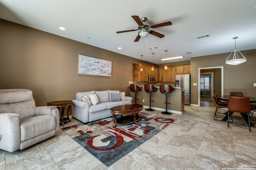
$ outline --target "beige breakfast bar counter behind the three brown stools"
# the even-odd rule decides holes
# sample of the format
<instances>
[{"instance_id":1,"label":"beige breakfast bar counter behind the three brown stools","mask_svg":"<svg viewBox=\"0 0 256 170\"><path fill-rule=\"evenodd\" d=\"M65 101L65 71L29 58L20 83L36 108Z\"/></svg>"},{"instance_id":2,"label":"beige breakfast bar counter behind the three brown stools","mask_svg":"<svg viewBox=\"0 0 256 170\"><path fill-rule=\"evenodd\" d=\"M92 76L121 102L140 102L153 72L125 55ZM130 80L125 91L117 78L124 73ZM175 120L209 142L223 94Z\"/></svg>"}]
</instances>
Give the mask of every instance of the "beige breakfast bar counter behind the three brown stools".
<instances>
[{"instance_id":1,"label":"beige breakfast bar counter behind the three brown stools","mask_svg":"<svg viewBox=\"0 0 256 170\"><path fill-rule=\"evenodd\" d=\"M140 86L142 90L140 92L137 92L136 94L136 104L141 104L146 108L149 108L149 93L145 92L144 86ZM165 95L160 93L159 86L155 86L157 89L156 92L152 93L151 96L151 108L156 110L165 111L166 110L166 104L165 104ZM171 113L179 113L182 114L184 111L184 91L183 88L176 88L173 87L174 91L167 95L168 98L168 104L167 109L168 112ZM135 93L131 92L131 97L133 98L132 103L135 104Z\"/></svg>"}]
</instances>

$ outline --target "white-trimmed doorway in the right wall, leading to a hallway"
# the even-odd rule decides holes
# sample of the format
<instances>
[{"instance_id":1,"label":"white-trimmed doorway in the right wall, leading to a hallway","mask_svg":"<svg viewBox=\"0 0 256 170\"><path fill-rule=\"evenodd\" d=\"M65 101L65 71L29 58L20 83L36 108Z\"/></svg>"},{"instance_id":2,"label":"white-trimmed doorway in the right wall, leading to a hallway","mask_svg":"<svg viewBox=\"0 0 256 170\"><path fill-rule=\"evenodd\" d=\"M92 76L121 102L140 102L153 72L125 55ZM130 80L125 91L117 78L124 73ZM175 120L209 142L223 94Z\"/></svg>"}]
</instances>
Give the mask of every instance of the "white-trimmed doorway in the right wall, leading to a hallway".
<instances>
[{"instance_id":1,"label":"white-trimmed doorway in the right wall, leading to a hallway","mask_svg":"<svg viewBox=\"0 0 256 170\"><path fill-rule=\"evenodd\" d=\"M205 95L203 94L203 96L207 96L206 97L206 102L202 102L201 104L201 87L202 87L202 83L200 82L201 79L201 75L208 75L210 76L210 84L208 84L209 88L211 88L210 90L206 91L207 95L205 93ZM204 67L204 68L198 68L198 106L204 105L205 103L212 103L211 102L211 96L213 94L218 94L219 96L223 95L223 87L224 87L224 83L223 83L223 66L216 66L216 67ZM202 80L202 79L201 79ZM200 87L201 85L201 87Z\"/></svg>"}]
</instances>

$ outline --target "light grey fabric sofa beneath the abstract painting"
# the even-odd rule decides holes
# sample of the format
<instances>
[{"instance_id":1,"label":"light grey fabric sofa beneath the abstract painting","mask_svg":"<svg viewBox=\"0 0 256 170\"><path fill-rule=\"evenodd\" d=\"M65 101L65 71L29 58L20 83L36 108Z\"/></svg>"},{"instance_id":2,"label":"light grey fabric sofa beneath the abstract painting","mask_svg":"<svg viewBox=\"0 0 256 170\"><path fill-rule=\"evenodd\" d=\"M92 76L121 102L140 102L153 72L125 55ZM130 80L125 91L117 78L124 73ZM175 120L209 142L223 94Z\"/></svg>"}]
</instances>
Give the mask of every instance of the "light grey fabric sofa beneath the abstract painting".
<instances>
[{"instance_id":1,"label":"light grey fabric sofa beneath the abstract painting","mask_svg":"<svg viewBox=\"0 0 256 170\"><path fill-rule=\"evenodd\" d=\"M81 96L86 94L96 94L98 98L98 104L90 105L90 102L84 102ZM132 97L122 96L120 101L113 100L116 95L122 96L124 93L118 90L105 90L105 91L90 91L90 92L78 92L76 93L76 100L72 100L72 117L88 123L91 121L111 117L110 109L115 106L132 104ZM95 96L95 95L94 95ZM112 98L111 98L112 97Z\"/></svg>"}]
</instances>

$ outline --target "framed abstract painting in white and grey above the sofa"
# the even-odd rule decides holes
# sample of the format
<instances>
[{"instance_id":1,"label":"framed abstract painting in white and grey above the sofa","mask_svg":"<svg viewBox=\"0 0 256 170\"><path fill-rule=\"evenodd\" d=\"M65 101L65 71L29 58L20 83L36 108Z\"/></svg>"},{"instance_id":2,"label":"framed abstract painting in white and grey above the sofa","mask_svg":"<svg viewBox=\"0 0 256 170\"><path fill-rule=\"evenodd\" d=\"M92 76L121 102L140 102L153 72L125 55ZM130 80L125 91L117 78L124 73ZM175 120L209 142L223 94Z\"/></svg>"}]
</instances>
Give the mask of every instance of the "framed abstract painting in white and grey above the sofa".
<instances>
[{"instance_id":1,"label":"framed abstract painting in white and grey above the sofa","mask_svg":"<svg viewBox=\"0 0 256 170\"><path fill-rule=\"evenodd\" d=\"M111 77L112 61L79 55L78 74Z\"/></svg>"}]
</instances>

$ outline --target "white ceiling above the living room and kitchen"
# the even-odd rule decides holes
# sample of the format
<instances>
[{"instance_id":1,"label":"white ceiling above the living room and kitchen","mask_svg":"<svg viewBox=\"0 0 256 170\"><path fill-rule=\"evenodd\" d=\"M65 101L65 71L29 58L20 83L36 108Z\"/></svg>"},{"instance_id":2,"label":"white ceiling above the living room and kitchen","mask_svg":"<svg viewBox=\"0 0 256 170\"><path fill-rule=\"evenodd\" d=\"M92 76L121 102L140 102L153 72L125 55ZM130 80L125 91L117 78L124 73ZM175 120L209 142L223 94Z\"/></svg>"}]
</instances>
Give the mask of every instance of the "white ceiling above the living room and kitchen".
<instances>
[{"instance_id":1,"label":"white ceiling above the living room and kitchen","mask_svg":"<svg viewBox=\"0 0 256 170\"><path fill-rule=\"evenodd\" d=\"M152 29L162 39L134 42L138 31L116 33L138 28L133 15L172 25ZM155 64L165 63L164 50L167 58L184 56L167 63L231 53L236 36L238 50L256 49L256 0L0 0L0 18Z\"/></svg>"}]
</instances>

